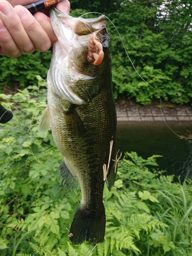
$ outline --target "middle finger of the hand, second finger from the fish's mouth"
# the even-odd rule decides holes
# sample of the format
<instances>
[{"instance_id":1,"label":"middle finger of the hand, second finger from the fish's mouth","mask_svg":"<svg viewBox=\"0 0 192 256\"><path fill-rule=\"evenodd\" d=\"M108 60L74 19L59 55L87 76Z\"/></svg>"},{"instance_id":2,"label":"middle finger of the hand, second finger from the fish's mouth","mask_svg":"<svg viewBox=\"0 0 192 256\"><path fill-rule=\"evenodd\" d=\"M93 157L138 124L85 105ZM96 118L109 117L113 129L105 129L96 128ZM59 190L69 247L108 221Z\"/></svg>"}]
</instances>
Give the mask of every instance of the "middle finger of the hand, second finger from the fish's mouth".
<instances>
[{"instance_id":1,"label":"middle finger of the hand, second finger from the fish's mouth","mask_svg":"<svg viewBox=\"0 0 192 256\"><path fill-rule=\"evenodd\" d=\"M15 6L23 27L32 41L35 49L40 52L45 52L51 47L51 40L36 18L23 6ZM45 16L45 19L47 17Z\"/></svg>"}]
</instances>

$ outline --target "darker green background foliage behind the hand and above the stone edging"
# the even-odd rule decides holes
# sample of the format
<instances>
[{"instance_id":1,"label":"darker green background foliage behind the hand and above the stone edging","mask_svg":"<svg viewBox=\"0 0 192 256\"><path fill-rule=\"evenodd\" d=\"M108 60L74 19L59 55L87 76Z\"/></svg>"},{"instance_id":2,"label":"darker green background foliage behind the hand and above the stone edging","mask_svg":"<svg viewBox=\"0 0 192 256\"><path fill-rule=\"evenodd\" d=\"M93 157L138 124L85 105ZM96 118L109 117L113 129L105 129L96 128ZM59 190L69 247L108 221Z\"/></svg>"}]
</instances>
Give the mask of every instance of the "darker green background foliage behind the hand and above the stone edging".
<instances>
[{"instance_id":1,"label":"darker green background foliage behind the hand and above the stone edging","mask_svg":"<svg viewBox=\"0 0 192 256\"><path fill-rule=\"evenodd\" d=\"M138 73L162 100L191 103L191 0L71 0L70 3L72 16L99 12L112 20ZM111 36L115 98L124 96L141 104L159 98L133 68L116 29L107 19L106 23ZM3 84L19 84L23 89L37 85L35 74L46 78L51 51L23 54L14 59L0 56L0 59L0 78L4 80L0 92Z\"/></svg>"}]
</instances>

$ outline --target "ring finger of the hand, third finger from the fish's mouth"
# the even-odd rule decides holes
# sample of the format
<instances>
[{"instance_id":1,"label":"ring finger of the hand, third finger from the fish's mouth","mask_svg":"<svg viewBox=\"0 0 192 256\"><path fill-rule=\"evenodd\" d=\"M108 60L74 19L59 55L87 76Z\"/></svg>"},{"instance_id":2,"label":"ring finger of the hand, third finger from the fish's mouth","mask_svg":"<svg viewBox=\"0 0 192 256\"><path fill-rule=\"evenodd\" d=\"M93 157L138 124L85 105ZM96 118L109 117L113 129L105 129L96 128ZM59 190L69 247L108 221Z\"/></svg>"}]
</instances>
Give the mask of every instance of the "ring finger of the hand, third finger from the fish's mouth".
<instances>
[{"instance_id":1,"label":"ring finger of the hand, third finger from the fish's mouth","mask_svg":"<svg viewBox=\"0 0 192 256\"><path fill-rule=\"evenodd\" d=\"M35 50L19 16L7 1L0 1L0 18L21 52L31 53Z\"/></svg>"}]
</instances>

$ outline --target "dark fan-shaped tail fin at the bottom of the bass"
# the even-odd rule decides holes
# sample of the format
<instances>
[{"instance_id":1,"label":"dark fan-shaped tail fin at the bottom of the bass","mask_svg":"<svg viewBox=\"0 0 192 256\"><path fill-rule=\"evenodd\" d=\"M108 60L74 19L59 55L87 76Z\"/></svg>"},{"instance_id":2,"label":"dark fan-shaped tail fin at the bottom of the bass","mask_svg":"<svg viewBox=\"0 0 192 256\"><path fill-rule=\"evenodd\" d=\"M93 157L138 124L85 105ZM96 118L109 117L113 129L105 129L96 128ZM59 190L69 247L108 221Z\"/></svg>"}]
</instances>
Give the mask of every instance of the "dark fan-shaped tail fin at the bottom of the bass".
<instances>
[{"instance_id":1,"label":"dark fan-shaped tail fin at the bottom of the bass","mask_svg":"<svg viewBox=\"0 0 192 256\"><path fill-rule=\"evenodd\" d=\"M70 229L70 240L73 244L82 244L88 241L91 244L102 243L105 232L104 205L99 214L93 215L80 206L75 212Z\"/></svg>"}]
</instances>

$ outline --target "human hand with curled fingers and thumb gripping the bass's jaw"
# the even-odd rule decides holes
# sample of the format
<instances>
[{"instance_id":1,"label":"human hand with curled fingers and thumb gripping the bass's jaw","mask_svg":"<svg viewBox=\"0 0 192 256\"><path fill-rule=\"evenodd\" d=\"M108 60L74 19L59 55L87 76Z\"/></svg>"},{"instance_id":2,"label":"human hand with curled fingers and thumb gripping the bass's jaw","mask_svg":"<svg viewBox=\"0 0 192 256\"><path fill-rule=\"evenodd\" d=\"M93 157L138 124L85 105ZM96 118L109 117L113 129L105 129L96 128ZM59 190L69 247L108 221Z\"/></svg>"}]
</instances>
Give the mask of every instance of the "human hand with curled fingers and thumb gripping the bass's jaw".
<instances>
[{"instance_id":1,"label":"human hand with curled fingers and thumb gripping the bass's jaw","mask_svg":"<svg viewBox=\"0 0 192 256\"><path fill-rule=\"evenodd\" d=\"M35 49L45 52L51 47L51 41L57 39L51 26L48 10L32 15L24 7L33 2L31 0L0 0L0 55L18 57L22 53L30 54ZM69 14L68 0L63 0L56 7Z\"/></svg>"}]
</instances>

